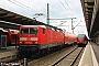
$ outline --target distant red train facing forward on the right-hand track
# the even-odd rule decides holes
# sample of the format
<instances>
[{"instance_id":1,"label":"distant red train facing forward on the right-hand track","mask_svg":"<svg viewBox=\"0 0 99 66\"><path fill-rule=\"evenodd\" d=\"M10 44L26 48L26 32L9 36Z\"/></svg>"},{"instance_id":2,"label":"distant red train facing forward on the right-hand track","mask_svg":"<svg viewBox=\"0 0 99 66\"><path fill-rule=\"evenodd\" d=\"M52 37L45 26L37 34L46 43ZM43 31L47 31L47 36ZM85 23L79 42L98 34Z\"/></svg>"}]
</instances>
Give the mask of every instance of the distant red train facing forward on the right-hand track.
<instances>
[{"instance_id":1,"label":"distant red train facing forward on the right-hand track","mask_svg":"<svg viewBox=\"0 0 99 66\"><path fill-rule=\"evenodd\" d=\"M87 42L88 42L88 38L86 34L78 34L78 37L77 37L78 46L86 46Z\"/></svg>"}]
</instances>

